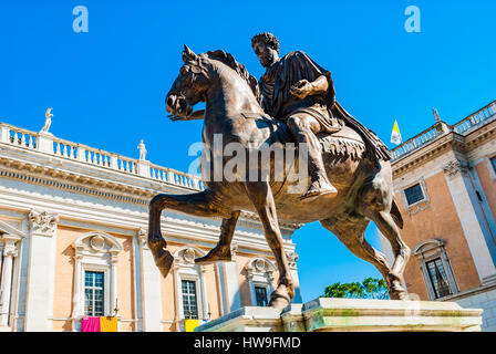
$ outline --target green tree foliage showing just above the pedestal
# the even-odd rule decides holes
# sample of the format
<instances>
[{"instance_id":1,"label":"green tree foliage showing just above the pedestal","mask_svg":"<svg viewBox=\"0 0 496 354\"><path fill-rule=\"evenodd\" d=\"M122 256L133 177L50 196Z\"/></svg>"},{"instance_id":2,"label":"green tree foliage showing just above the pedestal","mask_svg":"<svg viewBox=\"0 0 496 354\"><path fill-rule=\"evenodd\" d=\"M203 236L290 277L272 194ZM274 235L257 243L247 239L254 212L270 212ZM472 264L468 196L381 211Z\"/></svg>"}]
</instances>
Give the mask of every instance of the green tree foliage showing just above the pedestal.
<instances>
[{"instance_id":1,"label":"green tree foliage showing just above the pedestal","mask_svg":"<svg viewBox=\"0 0 496 354\"><path fill-rule=\"evenodd\" d=\"M384 279L366 278L361 283L337 282L326 287L324 298L349 299L389 299L388 285Z\"/></svg>"}]
</instances>

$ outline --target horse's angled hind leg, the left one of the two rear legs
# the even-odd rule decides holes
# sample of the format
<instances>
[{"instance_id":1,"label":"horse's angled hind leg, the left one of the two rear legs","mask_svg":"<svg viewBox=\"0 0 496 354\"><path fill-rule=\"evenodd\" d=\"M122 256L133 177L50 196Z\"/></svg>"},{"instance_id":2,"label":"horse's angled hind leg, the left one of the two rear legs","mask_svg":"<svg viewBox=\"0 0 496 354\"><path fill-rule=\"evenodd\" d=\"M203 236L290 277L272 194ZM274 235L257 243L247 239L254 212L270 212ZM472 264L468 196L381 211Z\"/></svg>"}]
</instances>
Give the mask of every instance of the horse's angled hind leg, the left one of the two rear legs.
<instances>
[{"instance_id":1,"label":"horse's angled hind leg, the left one of the two rear legs","mask_svg":"<svg viewBox=\"0 0 496 354\"><path fill-rule=\"evenodd\" d=\"M391 269L384 254L374 249L364 237L370 220L361 216L350 217L349 215L343 215L339 219L320 220L320 223L334 233L354 256L372 263L382 274L388 285L390 284L388 277ZM391 288L389 287L389 289Z\"/></svg>"}]
</instances>

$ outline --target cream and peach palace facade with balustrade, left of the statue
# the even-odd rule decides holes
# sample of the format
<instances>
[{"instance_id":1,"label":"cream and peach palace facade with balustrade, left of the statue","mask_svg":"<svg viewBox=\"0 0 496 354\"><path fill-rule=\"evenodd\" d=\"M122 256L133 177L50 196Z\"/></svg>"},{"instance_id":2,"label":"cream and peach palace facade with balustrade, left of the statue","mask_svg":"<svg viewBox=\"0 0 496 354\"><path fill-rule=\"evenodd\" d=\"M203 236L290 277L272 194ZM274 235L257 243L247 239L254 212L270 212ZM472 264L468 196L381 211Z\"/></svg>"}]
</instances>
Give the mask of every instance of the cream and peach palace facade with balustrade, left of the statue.
<instances>
[{"instance_id":1,"label":"cream and peach palace facade with balustrade, left of the statue","mask_svg":"<svg viewBox=\"0 0 496 354\"><path fill-rule=\"evenodd\" d=\"M246 305L266 305L278 271L261 223L241 215L232 261L196 266L220 219L162 215L175 257L163 279L146 244L158 192L203 190L198 177L0 123L0 331L81 331L85 316L118 331L185 331ZM285 249L301 302L291 235Z\"/></svg>"}]
</instances>

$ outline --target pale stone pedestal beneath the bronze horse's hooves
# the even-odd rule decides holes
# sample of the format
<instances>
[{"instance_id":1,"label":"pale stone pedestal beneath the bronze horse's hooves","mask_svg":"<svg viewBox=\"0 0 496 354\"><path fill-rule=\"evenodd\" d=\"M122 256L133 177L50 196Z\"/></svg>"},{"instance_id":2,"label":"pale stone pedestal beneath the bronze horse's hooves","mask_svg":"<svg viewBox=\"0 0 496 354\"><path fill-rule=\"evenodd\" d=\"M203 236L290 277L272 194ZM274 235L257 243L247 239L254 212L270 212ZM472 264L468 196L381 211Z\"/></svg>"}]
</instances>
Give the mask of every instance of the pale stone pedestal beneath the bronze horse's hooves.
<instances>
[{"instance_id":1,"label":"pale stone pedestal beneath the bronze horse's hooves","mask_svg":"<svg viewBox=\"0 0 496 354\"><path fill-rule=\"evenodd\" d=\"M241 308L195 332L478 332L482 312L455 302L320 298L282 311Z\"/></svg>"}]
</instances>

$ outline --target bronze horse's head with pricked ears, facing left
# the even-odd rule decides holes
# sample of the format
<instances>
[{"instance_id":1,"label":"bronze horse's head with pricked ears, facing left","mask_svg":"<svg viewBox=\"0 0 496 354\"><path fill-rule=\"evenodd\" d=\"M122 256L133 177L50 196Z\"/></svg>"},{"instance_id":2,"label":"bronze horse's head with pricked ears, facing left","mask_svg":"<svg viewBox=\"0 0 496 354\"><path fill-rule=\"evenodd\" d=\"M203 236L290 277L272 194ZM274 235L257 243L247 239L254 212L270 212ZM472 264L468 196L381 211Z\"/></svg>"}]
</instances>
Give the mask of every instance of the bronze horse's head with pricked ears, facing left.
<instances>
[{"instance_id":1,"label":"bronze horse's head with pricked ears, facing left","mask_svg":"<svg viewBox=\"0 0 496 354\"><path fill-rule=\"evenodd\" d=\"M165 98L167 112L179 117L188 116L195 104L205 102L209 83L208 71L202 55L196 55L185 45L183 61L179 75Z\"/></svg>"}]
</instances>

